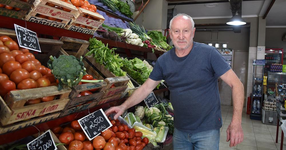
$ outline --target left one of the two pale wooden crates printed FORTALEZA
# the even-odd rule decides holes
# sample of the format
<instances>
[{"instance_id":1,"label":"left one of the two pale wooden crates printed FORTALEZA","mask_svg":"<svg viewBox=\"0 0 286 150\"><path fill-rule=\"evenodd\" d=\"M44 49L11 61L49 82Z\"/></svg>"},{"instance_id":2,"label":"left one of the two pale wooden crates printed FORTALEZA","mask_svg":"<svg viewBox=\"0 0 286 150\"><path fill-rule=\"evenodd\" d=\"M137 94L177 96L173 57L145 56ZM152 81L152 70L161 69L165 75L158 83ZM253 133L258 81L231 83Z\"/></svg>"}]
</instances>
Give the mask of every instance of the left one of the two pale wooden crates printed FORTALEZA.
<instances>
[{"instance_id":1,"label":"left one of the two pale wooden crates printed FORTALEZA","mask_svg":"<svg viewBox=\"0 0 286 150\"><path fill-rule=\"evenodd\" d=\"M57 9L55 7L45 5L46 3L52 3L54 5L69 9L71 11L70 12L63 11L61 9ZM60 0L35 0L35 2L32 5L32 10L25 17L25 20L35 22L35 23L44 24L44 25L50 25L53 27L63 28L69 23L70 19L77 12L78 12L78 10L76 9L76 7L74 5L69 4L69 3L65 3L65 2L60 1ZM61 21L53 21L50 19L37 17L36 16L37 14L45 15L48 17L53 17L56 19L60 19Z\"/></svg>"}]
</instances>

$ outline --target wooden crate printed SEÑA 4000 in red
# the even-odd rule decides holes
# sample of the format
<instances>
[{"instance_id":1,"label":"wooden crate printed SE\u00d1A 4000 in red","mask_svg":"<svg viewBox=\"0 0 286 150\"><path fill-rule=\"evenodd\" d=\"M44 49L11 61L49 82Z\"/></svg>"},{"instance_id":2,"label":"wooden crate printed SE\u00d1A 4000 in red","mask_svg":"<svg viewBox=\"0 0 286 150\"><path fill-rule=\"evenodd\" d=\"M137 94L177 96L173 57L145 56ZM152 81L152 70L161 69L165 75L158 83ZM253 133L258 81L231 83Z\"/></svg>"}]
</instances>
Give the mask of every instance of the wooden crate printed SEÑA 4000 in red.
<instances>
[{"instance_id":1,"label":"wooden crate printed SE\u00d1A 4000 in red","mask_svg":"<svg viewBox=\"0 0 286 150\"><path fill-rule=\"evenodd\" d=\"M5 101L2 98L0 99L2 111L0 123L5 126L25 119L60 111L68 103L68 95L71 91L69 87L64 87L61 91L58 91L56 86L11 91ZM59 95L57 96L58 99L24 106L29 99L52 95Z\"/></svg>"}]
</instances>

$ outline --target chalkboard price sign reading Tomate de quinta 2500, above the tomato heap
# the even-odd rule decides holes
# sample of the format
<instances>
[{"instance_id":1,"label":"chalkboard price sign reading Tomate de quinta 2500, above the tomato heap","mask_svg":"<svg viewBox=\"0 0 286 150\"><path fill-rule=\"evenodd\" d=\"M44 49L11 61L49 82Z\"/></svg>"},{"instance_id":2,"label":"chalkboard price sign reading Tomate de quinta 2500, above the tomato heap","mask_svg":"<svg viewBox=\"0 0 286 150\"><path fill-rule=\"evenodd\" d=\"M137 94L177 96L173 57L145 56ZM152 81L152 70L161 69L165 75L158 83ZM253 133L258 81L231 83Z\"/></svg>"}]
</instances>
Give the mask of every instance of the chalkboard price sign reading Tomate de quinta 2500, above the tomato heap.
<instances>
[{"instance_id":1,"label":"chalkboard price sign reading Tomate de quinta 2500, above the tomato heap","mask_svg":"<svg viewBox=\"0 0 286 150\"><path fill-rule=\"evenodd\" d=\"M37 33L14 24L19 46L41 52Z\"/></svg>"}]
</instances>

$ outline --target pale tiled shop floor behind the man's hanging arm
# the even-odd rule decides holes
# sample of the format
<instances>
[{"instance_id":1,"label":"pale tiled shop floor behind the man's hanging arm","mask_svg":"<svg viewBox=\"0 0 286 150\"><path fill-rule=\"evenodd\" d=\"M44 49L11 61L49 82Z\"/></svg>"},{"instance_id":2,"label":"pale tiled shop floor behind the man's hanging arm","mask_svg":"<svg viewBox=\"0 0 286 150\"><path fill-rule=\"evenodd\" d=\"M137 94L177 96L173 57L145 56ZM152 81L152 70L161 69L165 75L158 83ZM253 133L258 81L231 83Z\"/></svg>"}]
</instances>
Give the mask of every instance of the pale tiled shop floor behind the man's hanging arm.
<instances>
[{"instance_id":1,"label":"pale tiled shop floor behind the man's hanging arm","mask_svg":"<svg viewBox=\"0 0 286 150\"><path fill-rule=\"evenodd\" d=\"M281 140L281 127L279 127L278 143L275 143L276 139L276 126L266 125L262 121L251 120L249 115L245 113L245 109L242 113L242 128L244 133L244 140L242 143L235 147L229 147L229 142L227 139L227 127L231 123L231 118L233 114L232 106L221 105L221 112L223 117L223 127L221 127L220 135L220 150L280 150L280 140ZM284 141L286 138L284 137ZM172 144L164 147L163 150L172 150ZM286 150L286 141L283 144L283 150Z\"/></svg>"}]
</instances>

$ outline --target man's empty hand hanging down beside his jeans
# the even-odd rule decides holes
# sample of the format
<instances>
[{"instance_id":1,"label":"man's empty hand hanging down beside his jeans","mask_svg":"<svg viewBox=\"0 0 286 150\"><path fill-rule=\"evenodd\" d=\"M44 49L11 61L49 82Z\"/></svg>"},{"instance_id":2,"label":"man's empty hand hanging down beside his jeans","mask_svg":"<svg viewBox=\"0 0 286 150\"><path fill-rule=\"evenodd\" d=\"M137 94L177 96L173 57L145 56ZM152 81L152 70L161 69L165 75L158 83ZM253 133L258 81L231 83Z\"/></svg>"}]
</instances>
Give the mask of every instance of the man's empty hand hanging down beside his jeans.
<instances>
[{"instance_id":1,"label":"man's empty hand hanging down beside his jeans","mask_svg":"<svg viewBox=\"0 0 286 150\"><path fill-rule=\"evenodd\" d=\"M243 131L241 128L241 123L229 124L227 128L227 142L230 140L229 147L236 146L243 141Z\"/></svg>"}]
</instances>

